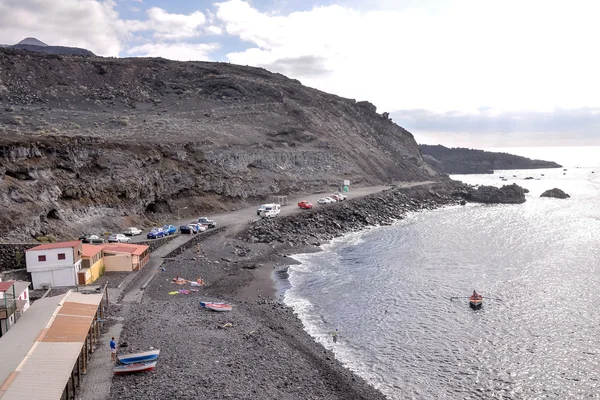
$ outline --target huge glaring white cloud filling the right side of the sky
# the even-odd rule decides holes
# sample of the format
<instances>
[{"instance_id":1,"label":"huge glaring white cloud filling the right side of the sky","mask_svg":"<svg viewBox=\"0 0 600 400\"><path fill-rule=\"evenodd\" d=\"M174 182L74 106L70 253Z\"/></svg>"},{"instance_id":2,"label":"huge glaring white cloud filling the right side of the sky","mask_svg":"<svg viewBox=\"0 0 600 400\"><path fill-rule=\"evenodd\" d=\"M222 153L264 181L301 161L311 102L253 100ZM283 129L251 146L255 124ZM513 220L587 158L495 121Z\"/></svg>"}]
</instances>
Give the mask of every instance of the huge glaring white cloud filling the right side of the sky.
<instances>
[{"instance_id":1,"label":"huge glaring white cloud filling the right side of the sky","mask_svg":"<svg viewBox=\"0 0 600 400\"><path fill-rule=\"evenodd\" d=\"M385 11L333 5L279 16L228 0L216 5L216 16L227 33L251 44L228 54L230 61L295 70L305 84L369 99L380 111L600 106L600 3L393 4ZM310 57L319 60L322 76L290 69L290 60Z\"/></svg>"}]
</instances>

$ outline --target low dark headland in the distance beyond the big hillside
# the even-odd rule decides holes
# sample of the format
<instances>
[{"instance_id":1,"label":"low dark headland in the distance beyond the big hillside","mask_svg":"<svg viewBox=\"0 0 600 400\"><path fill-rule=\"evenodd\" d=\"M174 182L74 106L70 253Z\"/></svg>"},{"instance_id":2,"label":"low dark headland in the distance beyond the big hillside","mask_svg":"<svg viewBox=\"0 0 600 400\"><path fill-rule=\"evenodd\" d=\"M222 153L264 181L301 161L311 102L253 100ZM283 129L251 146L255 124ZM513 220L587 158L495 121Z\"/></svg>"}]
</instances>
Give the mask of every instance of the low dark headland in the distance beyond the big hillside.
<instances>
[{"instance_id":1,"label":"low dark headland in the distance beyond the big hillside","mask_svg":"<svg viewBox=\"0 0 600 400\"><path fill-rule=\"evenodd\" d=\"M425 161L446 174L491 174L497 169L560 168L552 161L532 160L508 153L419 145Z\"/></svg>"}]
</instances>

